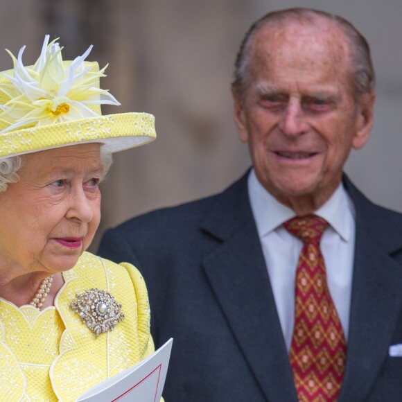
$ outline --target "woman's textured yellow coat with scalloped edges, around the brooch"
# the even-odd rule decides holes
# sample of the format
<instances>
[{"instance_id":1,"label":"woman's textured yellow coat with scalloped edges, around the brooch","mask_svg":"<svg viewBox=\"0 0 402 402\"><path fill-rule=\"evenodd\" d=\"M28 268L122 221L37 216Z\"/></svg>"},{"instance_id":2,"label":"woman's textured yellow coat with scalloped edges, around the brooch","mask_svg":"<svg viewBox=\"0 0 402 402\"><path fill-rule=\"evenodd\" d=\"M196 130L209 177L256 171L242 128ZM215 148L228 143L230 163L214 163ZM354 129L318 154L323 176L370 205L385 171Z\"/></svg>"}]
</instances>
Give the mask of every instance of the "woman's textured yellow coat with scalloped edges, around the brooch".
<instances>
[{"instance_id":1,"label":"woman's textured yellow coat with scalloped edges, around the brooch","mask_svg":"<svg viewBox=\"0 0 402 402\"><path fill-rule=\"evenodd\" d=\"M63 276L55 306L42 312L0 299L0 401L74 401L154 351L148 295L136 268L84 253ZM98 338L69 307L89 288L110 292L125 314Z\"/></svg>"}]
</instances>

